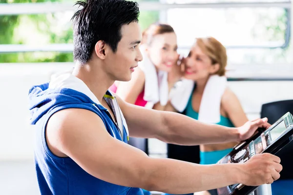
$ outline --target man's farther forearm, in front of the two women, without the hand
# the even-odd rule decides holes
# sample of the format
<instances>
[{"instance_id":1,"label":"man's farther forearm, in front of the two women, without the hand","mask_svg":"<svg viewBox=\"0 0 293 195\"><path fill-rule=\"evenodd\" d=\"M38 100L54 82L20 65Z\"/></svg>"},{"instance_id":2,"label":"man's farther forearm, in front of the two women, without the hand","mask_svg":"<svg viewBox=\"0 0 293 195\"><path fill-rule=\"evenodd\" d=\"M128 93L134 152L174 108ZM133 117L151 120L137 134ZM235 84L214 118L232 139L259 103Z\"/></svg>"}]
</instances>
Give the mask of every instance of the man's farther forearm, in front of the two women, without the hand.
<instances>
[{"instance_id":1,"label":"man's farther forearm, in front of the two women, without the hand","mask_svg":"<svg viewBox=\"0 0 293 195\"><path fill-rule=\"evenodd\" d=\"M207 124L186 117L182 114L164 112L164 131L159 139L180 145L198 145L237 141L239 134L236 128Z\"/></svg>"}]
</instances>

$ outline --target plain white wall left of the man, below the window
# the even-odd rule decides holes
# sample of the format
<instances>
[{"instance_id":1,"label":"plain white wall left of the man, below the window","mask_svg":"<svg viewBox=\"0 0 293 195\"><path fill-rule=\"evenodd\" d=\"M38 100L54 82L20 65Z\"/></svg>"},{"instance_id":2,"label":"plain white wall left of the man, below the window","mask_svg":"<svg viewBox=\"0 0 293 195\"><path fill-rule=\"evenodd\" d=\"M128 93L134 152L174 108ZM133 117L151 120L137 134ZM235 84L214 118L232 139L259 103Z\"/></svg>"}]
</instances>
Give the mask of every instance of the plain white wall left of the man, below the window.
<instances>
[{"instance_id":1,"label":"plain white wall left of the man, below the window","mask_svg":"<svg viewBox=\"0 0 293 195\"><path fill-rule=\"evenodd\" d=\"M55 70L71 66L0 65L0 160L33 158L34 130L28 123L29 88L47 82Z\"/></svg>"}]
</instances>

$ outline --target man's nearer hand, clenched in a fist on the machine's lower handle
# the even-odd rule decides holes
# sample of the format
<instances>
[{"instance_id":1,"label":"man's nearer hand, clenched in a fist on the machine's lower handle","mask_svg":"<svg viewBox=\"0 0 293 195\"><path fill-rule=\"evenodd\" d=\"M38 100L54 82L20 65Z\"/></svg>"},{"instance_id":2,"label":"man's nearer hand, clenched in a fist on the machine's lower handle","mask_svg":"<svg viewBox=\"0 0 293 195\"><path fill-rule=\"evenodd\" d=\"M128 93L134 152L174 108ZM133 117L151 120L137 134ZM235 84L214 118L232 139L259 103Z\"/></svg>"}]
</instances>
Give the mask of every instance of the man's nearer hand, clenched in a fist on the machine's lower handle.
<instances>
[{"instance_id":1,"label":"man's nearer hand, clenched in a fist on the machine's lower handle","mask_svg":"<svg viewBox=\"0 0 293 195\"><path fill-rule=\"evenodd\" d=\"M243 175L240 183L247 186L271 184L280 178L283 167L281 159L269 153L252 156L250 160L241 164Z\"/></svg>"}]
</instances>

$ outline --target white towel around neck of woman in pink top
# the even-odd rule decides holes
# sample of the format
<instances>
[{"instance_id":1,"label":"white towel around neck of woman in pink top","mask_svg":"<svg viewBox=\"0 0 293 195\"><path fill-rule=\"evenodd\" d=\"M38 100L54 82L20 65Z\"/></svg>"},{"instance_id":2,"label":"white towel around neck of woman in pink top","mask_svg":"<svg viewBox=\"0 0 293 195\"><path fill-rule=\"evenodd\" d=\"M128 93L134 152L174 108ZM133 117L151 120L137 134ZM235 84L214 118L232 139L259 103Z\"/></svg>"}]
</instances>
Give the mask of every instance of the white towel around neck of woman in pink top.
<instances>
[{"instance_id":1,"label":"white towel around neck of woman in pink top","mask_svg":"<svg viewBox=\"0 0 293 195\"><path fill-rule=\"evenodd\" d=\"M147 104L145 107L152 108L157 102L165 106L168 101L168 73L165 71L157 73L155 65L148 58L143 45L140 50L144 59L138 65L145 73L146 78L144 100L147 101Z\"/></svg>"}]
</instances>

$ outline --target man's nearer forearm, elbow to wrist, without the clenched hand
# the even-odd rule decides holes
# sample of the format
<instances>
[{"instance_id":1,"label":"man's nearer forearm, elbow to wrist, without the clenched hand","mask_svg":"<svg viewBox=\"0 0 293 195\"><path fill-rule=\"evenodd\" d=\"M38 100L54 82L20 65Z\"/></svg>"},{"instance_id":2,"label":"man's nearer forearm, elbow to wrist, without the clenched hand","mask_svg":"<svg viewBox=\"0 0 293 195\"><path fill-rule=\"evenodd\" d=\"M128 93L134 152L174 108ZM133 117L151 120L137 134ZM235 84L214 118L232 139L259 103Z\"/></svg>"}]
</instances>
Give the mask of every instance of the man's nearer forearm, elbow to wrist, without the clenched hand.
<instances>
[{"instance_id":1,"label":"man's nearer forearm, elbow to wrist, without the clenched hand","mask_svg":"<svg viewBox=\"0 0 293 195\"><path fill-rule=\"evenodd\" d=\"M239 164L199 165L172 159L152 159L146 176L149 189L171 194L188 194L240 183ZM149 183L149 181L147 182Z\"/></svg>"}]
</instances>

